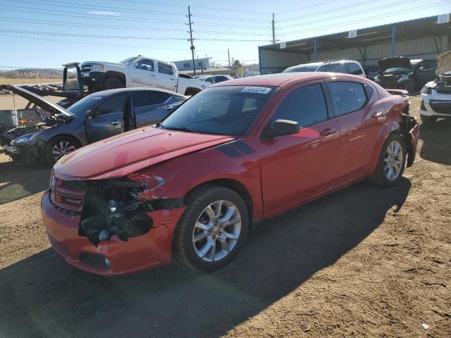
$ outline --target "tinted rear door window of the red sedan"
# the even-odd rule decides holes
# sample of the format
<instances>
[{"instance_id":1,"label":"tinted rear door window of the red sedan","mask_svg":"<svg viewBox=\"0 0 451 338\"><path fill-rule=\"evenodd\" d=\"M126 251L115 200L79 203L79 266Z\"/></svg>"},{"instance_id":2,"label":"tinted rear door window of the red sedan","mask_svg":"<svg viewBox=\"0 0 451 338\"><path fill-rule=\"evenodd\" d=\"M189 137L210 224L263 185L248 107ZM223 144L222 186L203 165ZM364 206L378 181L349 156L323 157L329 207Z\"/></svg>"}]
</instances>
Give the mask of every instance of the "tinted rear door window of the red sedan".
<instances>
[{"instance_id":1,"label":"tinted rear door window of the red sedan","mask_svg":"<svg viewBox=\"0 0 451 338\"><path fill-rule=\"evenodd\" d=\"M359 111L368 101L364 85L359 82L328 82L328 88L337 116Z\"/></svg>"}]
</instances>

